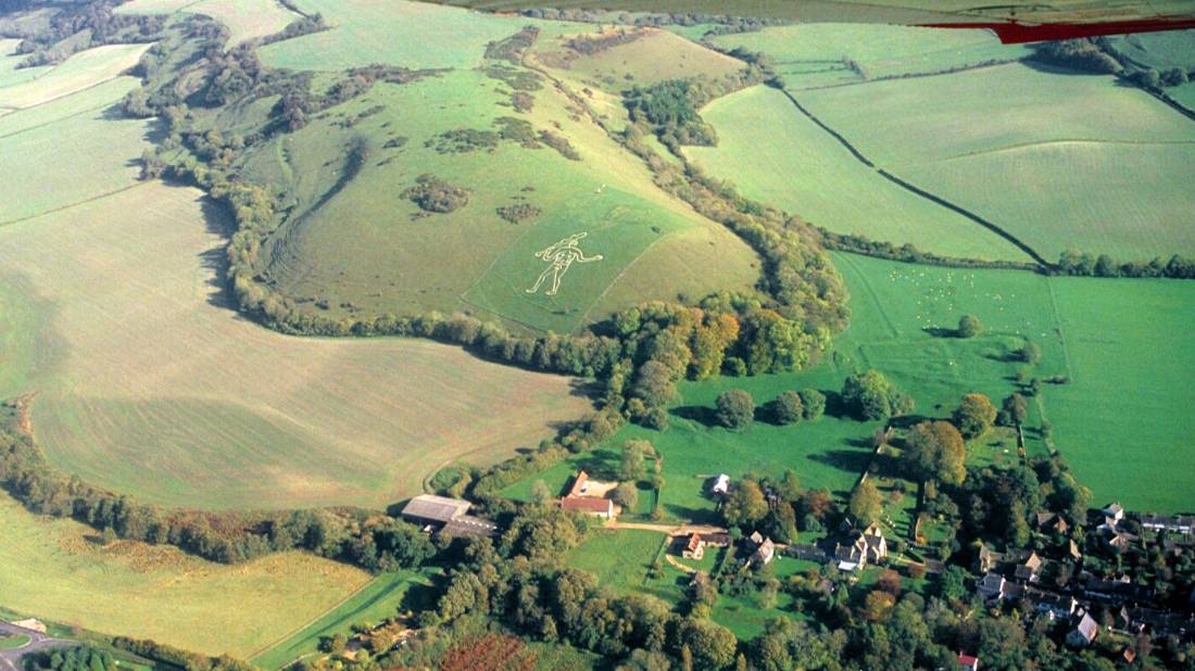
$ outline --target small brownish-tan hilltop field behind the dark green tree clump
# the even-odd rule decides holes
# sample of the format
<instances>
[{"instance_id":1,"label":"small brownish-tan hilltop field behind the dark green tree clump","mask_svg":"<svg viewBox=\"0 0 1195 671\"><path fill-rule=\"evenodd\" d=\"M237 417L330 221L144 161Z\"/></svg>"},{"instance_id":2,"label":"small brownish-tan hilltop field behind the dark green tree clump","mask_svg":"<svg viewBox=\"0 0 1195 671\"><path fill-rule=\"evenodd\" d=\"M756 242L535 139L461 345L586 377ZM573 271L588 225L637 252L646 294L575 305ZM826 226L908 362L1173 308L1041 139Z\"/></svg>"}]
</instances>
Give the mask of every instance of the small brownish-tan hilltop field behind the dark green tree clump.
<instances>
[{"instance_id":1,"label":"small brownish-tan hilltop field behind the dark green tree clump","mask_svg":"<svg viewBox=\"0 0 1195 671\"><path fill-rule=\"evenodd\" d=\"M551 53L545 53L549 43L544 44L537 45L535 51L549 56L544 59L546 62L552 62ZM595 54L572 55L576 57L559 74L595 88L615 92L666 79L698 75L718 78L746 66L737 59L656 29L643 29L638 38Z\"/></svg>"}]
</instances>

